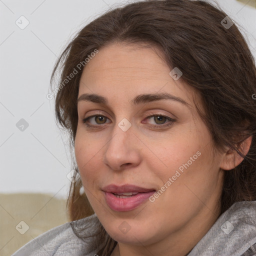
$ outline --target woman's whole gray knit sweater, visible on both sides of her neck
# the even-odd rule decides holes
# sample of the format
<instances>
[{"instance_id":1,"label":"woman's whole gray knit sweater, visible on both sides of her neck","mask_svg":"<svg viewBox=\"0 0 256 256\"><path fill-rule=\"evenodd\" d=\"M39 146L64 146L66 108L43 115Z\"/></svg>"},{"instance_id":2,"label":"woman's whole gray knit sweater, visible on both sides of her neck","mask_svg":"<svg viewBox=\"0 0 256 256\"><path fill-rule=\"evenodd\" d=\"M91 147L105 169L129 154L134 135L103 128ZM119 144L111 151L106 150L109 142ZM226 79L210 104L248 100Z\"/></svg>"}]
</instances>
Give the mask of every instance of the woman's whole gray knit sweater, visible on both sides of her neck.
<instances>
[{"instance_id":1,"label":"woman's whole gray knit sweater, visible on both sides of her neck","mask_svg":"<svg viewBox=\"0 0 256 256\"><path fill-rule=\"evenodd\" d=\"M85 232L93 232L95 214L73 221L77 226L90 223ZM54 227L29 241L11 256L95 256L86 241L78 238L70 222ZM234 203L221 214L188 256L256 255L256 201ZM171 255L166 255L171 256Z\"/></svg>"}]
</instances>

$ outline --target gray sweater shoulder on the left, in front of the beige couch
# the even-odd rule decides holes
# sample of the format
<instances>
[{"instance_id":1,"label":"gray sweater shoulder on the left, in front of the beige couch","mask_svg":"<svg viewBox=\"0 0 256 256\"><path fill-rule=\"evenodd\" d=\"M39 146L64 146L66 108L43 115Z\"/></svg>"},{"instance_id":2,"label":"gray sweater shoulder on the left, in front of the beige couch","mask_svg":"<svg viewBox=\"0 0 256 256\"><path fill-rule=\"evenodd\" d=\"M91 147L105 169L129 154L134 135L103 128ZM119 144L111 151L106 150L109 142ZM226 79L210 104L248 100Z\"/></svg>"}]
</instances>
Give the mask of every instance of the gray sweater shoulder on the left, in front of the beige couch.
<instances>
[{"instance_id":1,"label":"gray sweater shoulder on the left, in front of the beige couch","mask_svg":"<svg viewBox=\"0 0 256 256\"><path fill-rule=\"evenodd\" d=\"M77 237L71 227L71 223L76 225L84 225L86 223L93 224L97 217L95 213L86 218L70 221L65 224L56 226L29 241L11 256L60 256L60 255L88 255L93 256L94 253L86 254L87 242ZM93 225L87 227L87 233L93 233Z\"/></svg>"}]
</instances>

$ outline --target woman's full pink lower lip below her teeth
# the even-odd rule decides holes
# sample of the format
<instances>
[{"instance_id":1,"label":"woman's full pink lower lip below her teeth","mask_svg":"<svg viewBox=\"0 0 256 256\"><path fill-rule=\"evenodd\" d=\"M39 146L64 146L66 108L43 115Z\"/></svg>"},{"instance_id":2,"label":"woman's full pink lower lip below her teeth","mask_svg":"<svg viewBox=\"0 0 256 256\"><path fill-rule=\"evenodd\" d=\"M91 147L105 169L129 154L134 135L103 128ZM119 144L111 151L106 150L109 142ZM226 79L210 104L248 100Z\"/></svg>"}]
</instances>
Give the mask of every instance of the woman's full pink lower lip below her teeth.
<instances>
[{"instance_id":1,"label":"woman's full pink lower lip below her teeth","mask_svg":"<svg viewBox=\"0 0 256 256\"><path fill-rule=\"evenodd\" d=\"M149 191L146 193L137 193L127 198L119 198L112 193L104 192L107 205L116 211L128 211L133 210L146 199L148 199L155 191Z\"/></svg>"}]
</instances>

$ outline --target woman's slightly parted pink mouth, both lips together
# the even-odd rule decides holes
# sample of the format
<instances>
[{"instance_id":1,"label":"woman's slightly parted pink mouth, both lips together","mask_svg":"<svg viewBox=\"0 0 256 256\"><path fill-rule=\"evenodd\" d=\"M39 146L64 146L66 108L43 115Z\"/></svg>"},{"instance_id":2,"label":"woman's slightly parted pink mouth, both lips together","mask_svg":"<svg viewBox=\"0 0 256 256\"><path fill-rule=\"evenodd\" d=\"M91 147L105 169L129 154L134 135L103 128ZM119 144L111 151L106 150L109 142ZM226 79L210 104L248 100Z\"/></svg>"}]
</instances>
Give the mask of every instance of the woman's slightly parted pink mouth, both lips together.
<instances>
[{"instance_id":1,"label":"woman's slightly parted pink mouth, both lips together","mask_svg":"<svg viewBox=\"0 0 256 256\"><path fill-rule=\"evenodd\" d=\"M129 211L137 208L154 192L154 188L145 188L132 184L110 184L103 189L107 205L115 211Z\"/></svg>"}]
</instances>

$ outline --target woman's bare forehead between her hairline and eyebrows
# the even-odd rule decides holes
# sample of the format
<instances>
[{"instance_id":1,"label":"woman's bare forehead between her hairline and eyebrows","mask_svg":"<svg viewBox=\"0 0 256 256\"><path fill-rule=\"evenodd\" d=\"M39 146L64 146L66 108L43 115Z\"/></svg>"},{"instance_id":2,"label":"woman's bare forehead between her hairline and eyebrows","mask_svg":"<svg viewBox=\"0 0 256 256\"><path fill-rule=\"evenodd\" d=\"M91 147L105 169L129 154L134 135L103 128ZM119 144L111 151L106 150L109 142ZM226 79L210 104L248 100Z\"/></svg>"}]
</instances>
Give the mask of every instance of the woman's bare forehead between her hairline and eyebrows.
<instances>
[{"instance_id":1,"label":"woman's bare forehead between her hairline and eyebrows","mask_svg":"<svg viewBox=\"0 0 256 256\"><path fill-rule=\"evenodd\" d=\"M192 87L182 78L174 80L170 71L162 52L156 47L111 43L100 48L86 64L79 95L96 93L106 97L125 95L125 98L134 98L137 94L166 92L193 104L195 92Z\"/></svg>"}]
</instances>

